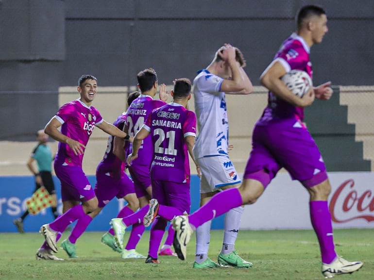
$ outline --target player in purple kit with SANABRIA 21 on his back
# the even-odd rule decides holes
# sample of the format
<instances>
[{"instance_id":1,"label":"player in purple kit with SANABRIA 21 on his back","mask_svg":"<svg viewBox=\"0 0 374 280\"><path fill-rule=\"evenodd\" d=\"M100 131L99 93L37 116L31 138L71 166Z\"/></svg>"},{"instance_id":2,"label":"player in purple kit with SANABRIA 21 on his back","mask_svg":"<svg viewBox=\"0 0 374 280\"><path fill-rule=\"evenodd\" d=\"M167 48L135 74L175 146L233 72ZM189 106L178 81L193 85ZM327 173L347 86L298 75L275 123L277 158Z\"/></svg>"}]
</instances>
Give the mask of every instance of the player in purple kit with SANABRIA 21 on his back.
<instances>
[{"instance_id":1,"label":"player in purple kit with SANABRIA 21 on his back","mask_svg":"<svg viewBox=\"0 0 374 280\"><path fill-rule=\"evenodd\" d=\"M168 221L190 211L190 170L188 153L197 166L192 153L196 137L196 115L186 109L191 97L191 82L186 79L174 81L172 102L153 110L133 142L133 151L127 163L136 163L138 150L148 135L151 135L153 162L150 168L152 199L146 225L152 224L149 251L146 263L159 263L157 251ZM158 215L158 216L157 216Z\"/></svg>"}]
</instances>

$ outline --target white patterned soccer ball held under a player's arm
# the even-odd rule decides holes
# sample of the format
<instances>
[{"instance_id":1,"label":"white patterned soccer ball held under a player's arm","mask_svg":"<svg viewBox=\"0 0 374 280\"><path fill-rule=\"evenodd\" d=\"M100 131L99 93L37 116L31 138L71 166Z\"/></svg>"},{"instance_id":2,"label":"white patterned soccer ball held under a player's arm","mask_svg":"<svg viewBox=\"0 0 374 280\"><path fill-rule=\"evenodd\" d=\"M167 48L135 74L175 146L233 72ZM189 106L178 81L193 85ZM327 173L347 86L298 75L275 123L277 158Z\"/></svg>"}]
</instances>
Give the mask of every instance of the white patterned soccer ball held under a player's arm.
<instances>
[{"instance_id":1,"label":"white patterned soccer ball held under a player's arm","mask_svg":"<svg viewBox=\"0 0 374 280\"><path fill-rule=\"evenodd\" d=\"M310 87L313 86L309 75L302 70L291 70L284 74L281 80L298 97L303 97L309 91Z\"/></svg>"}]
</instances>

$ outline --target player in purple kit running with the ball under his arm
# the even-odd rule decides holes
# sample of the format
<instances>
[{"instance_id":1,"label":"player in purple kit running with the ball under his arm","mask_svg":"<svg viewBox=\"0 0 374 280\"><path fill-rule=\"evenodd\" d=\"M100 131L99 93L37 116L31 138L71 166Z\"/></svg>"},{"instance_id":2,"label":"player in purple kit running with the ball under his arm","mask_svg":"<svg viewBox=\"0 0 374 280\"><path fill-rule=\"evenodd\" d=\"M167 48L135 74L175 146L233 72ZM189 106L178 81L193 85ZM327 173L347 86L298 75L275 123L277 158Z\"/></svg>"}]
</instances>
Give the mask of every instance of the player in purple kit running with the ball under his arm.
<instances>
[{"instance_id":1,"label":"player in purple kit running with the ball under his arm","mask_svg":"<svg viewBox=\"0 0 374 280\"><path fill-rule=\"evenodd\" d=\"M291 69L304 70L312 76L309 50L312 45L322 42L327 31L327 16L323 8L306 5L300 9L297 32L283 42L260 78L261 83L269 89L268 106L254 128L253 148L245 168L244 181L238 189L226 190L214 196L208 204L188 217L178 216L174 219L174 242L178 254L186 255L190 235L204 222L243 203L255 203L284 167L310 195L310 219L321 249L323 276L332 278L338 274L353 273L362 267L362 262L346 261L335 251L327 203L331 186L320 151L303 122L304 107L311 105L314 98L330 99L330 82L311 89L303 98L299 98L280 80Z\"/></svg>"}]
</instances>

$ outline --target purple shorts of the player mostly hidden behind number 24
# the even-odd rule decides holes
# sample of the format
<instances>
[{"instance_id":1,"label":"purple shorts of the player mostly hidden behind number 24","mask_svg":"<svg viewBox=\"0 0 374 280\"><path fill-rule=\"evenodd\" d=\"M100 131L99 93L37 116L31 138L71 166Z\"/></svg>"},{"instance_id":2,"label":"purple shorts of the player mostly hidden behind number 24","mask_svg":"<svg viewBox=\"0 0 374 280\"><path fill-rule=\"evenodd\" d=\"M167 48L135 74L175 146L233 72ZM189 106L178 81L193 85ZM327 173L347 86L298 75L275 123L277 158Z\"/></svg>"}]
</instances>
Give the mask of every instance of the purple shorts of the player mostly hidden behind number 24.
<instances>
[{"instance_id":1,"label":"purple shorts of the player mostly hidden behind number 24","mask_svg":"<svg viewBox=\"0 0 374 280\"><path fill-rule=\"evenodd\" d=\"M125 173L121 178L112 178L109 173L96 172L95 194L100 208L114 197L124 198L133 193L135 193L134 183Z\"/></svg>"}]
</instances>

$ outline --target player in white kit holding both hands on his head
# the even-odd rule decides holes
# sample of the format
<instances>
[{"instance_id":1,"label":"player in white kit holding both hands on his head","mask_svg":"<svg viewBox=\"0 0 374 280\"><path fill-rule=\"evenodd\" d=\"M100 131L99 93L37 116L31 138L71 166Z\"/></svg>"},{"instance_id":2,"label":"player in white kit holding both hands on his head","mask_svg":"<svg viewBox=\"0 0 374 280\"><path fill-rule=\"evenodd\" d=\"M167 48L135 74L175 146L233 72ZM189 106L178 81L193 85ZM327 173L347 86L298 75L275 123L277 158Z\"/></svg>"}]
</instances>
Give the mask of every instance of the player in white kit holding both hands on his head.
<instances>
[{"instance_id":1,"label":"player in white kit holding both hands on his head","mask_svg":"<svg viewBox=\"0 0 374 280\"><path fill-rule=\"evenodd\" d=\"M225 94L250 94L253 86L244 71L246 62L241 51L224 44L205 69L198 71L193 81L193 95L197 116L198 136L193 148L201 169L200 205L224 189L239 186L240 178L228 152L229 123ZM227 198L230 199L230 198ZM232 209L225 216L224 235L218 262L221 265L248 268L252 264L243 260L235 250L242 207ZM193 268L215 268L219 264L208 257L210 242L208 221L196 230L196 254Z\"/></svg>"}]
</instances>

